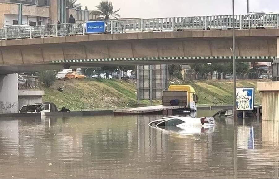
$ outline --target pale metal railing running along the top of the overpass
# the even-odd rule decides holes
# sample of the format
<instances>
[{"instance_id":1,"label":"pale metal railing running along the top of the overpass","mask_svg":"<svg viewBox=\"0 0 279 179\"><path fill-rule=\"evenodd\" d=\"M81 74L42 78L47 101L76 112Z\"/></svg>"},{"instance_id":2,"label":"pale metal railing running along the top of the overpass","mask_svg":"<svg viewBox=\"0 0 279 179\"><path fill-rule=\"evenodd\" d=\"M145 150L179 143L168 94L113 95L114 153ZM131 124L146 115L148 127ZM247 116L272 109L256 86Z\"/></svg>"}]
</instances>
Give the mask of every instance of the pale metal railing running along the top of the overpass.
<instances>
[{"instance_id":1,"label":"pale metal railing running along the top of the overpass","mask_svg":"<svg viewBox=\"0 0 279 179\"><path fill-rule=\"evenodd\" d=\"M166 17L105 21L105 33L232 29L232 15ZM279 14L235 15L236 29L279 28ZM86 34L85 22L0 29L0 39L21 39Z\"/></svg>"}]
</instances>

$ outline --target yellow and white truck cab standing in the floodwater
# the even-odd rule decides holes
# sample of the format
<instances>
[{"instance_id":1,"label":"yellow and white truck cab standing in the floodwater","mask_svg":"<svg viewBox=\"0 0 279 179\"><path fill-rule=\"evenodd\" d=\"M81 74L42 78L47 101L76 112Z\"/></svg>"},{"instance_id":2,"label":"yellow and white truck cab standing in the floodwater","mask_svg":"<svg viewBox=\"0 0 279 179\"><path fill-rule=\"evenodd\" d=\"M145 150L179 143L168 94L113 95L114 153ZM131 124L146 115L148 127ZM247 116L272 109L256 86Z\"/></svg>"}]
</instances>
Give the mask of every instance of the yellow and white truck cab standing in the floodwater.
<instances>
[{"instance_id":1,"label":"yellow and white truck cab standing in the floodwater","mask_svg":"<svg viewBox=\"0 0 279 179\"><path fill-rule=\"evenodd\" d=\"M190 85L170 85L168 91L185 91L187 92L187 107L192 111L197 110L198 95Z\"/></svg>"}]
</instances>

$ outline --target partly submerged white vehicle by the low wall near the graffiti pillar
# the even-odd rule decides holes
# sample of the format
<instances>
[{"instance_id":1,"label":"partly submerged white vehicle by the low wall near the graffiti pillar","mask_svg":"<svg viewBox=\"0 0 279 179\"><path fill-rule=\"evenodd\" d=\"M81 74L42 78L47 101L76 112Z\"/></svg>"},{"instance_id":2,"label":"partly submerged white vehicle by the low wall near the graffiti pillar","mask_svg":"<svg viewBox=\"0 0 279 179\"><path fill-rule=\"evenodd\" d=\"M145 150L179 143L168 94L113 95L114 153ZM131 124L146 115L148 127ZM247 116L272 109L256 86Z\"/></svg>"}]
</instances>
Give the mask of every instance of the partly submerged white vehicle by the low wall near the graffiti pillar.
<instances>
[{"instance_id":1,"label":"partly submerged white vehicle by the low wall near the graffiti pillar","mask_svg":"<svg viewBox=\"0 0 279 179\"><path fill-rule=\"evenodd\" d=\"M47 112L58 112L58 109L55 104L45 102L45 103L24 105L19 110L19 113L47 113Z\"/></svg>"}]
</instances>

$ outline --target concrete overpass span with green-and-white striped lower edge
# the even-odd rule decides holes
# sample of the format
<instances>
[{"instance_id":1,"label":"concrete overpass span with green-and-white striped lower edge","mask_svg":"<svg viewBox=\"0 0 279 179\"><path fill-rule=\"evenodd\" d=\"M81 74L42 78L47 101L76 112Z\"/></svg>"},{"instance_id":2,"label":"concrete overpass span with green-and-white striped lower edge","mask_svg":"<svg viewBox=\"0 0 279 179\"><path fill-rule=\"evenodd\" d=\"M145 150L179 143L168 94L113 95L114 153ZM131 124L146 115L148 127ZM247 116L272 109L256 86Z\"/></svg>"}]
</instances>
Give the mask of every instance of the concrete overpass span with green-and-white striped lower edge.
<instances>
[{"instance_id":1,"label":"concrete overpass span with green-and-white striped lower edge","mask_svg":"<svg viewBox=\"0 0 279 179\"><path fill-rule=\"evenodd\" d=\"M236 30L236 59L271 62L279 29ZM232 30L137 32L0 41L0 74L103 65L232 61Z\"/></svg>"}]
</instances>

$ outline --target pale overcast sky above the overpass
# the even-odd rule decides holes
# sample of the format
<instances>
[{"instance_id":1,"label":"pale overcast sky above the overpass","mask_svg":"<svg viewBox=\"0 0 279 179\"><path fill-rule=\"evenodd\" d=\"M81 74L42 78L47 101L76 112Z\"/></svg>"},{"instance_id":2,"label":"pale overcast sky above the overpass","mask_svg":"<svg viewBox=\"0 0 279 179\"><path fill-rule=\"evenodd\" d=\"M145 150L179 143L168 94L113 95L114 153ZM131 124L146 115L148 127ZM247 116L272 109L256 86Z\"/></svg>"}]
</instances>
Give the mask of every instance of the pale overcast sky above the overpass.
<instances>
[{"instance_id":1,"label":"pale overcast sky above the overpass","mask_svg":"<svg viewBox=\"0 0 279 179\"><path fill-rule=\"evenodd\" d=\"M84 9L96 10L101 0L77 0ZM232 0L111 0L121 18L158 18L230 15ZM235 14L246 14L246 0L234 0ZM279 0L249 0L249 11L279 12Z\"/></svg>"}]
</instances>

